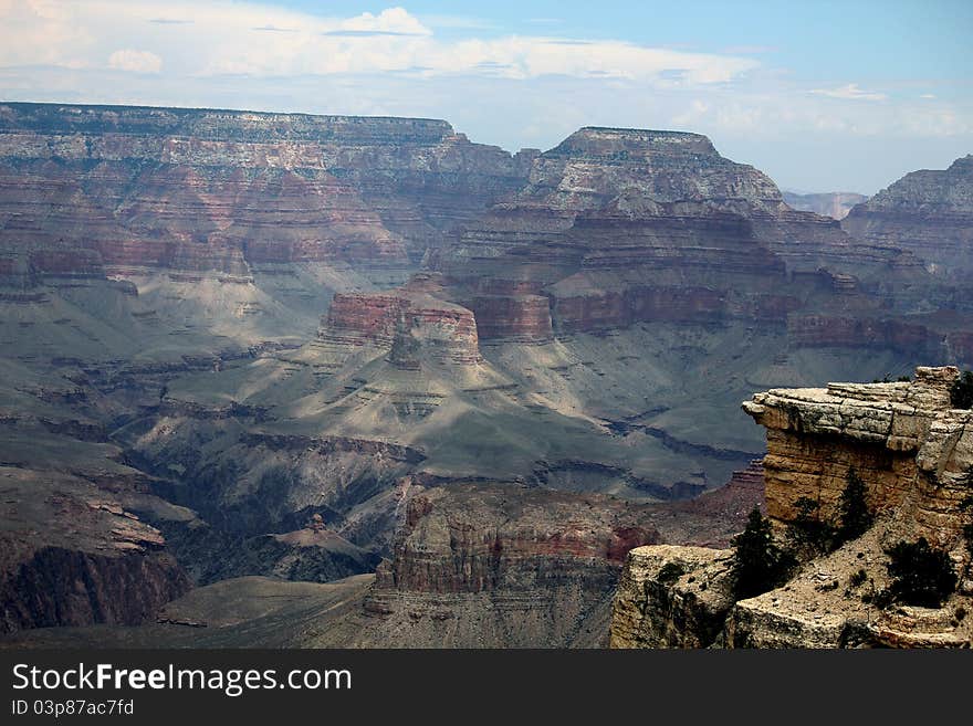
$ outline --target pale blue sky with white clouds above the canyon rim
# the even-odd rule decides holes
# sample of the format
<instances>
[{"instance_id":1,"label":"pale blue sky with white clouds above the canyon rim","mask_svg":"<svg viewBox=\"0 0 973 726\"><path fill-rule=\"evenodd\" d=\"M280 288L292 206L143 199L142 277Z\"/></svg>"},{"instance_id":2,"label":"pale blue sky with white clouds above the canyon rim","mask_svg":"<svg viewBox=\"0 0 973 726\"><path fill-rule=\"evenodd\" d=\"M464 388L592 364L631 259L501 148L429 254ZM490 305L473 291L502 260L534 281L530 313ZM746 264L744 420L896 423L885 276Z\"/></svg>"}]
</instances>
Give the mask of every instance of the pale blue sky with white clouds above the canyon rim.
<instances>
[{"instance_id":1,"label":"pale blue sky with white clouds above the canyon rim","mask_svg":"<svg viewBox=\"0 0 973 726\"><path fill-rule=\"evenodd\" d=\"M971 0L0 0L0 101L691 130L782 188L973 152Z\"/></svg>"}]
</instances>

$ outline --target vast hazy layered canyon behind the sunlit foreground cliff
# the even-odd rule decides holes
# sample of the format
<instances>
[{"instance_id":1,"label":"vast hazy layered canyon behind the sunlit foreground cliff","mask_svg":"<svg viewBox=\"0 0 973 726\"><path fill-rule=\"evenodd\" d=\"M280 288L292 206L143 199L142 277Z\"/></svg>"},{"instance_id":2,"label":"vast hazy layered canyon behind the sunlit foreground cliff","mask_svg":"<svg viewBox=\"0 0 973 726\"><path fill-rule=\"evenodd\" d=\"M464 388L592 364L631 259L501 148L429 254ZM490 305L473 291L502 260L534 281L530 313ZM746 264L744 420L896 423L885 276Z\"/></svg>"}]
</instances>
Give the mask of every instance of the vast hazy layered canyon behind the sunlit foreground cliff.
<instances>
[{"instance_id":1,"label":"vast hazy layered canyon behind the sunlit foreground cliff","mask_svg":"<svg viewBox=\"0 0 973 726\"><path fill-rule=\"evenodd\" d=\"M777 516L740 400L973 365L869 204L681 131L0 104L6 638L604 645L629 550Z\"/></svg>"}]
</instances>

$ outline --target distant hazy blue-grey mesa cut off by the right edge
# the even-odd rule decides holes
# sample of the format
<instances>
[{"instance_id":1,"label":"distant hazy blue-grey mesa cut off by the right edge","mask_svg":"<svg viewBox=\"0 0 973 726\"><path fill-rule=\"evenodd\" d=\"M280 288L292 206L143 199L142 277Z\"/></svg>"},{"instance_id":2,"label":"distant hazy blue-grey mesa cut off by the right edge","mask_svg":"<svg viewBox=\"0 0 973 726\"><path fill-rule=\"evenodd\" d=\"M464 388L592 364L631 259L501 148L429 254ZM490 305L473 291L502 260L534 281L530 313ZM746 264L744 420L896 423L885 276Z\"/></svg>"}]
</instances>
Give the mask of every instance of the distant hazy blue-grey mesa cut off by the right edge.
<instances>
[{"instance_id":1,"label":"distant hazy blue-grey mesa cut off by the right edge","mask_svg":"<svg viewBox=\"0 0 973 726\"><path fill-rule=\"evenodd\" d=\"M963 282L973 269L973 155L945 170L907 173L855 207L841 227L857 239L908 250L937 275Z\"/></svg>"}]
</instances>

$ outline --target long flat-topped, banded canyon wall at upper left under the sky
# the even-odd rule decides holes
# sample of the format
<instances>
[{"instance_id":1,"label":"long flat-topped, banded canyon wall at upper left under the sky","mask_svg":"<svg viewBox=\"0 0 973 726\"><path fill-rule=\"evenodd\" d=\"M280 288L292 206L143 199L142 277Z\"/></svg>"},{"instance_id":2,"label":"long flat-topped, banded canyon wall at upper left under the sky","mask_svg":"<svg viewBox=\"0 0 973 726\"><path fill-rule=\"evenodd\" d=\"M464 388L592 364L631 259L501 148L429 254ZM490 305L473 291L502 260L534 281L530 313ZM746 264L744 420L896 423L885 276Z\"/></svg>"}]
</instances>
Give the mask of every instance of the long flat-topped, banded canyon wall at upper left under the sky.
<instances>
[{"instance_id":1,"label":"long flat-topped, banded canyon wall at upper left under the sky","mask_svg":"<svg viewBox=\"0 0 973 726\"><path fill-rule=\"evenodd\" d=\"M0 105L0 249L213 270L402 265L519 188L532 154L446 122Z\"/></svg>"}]
</instances>

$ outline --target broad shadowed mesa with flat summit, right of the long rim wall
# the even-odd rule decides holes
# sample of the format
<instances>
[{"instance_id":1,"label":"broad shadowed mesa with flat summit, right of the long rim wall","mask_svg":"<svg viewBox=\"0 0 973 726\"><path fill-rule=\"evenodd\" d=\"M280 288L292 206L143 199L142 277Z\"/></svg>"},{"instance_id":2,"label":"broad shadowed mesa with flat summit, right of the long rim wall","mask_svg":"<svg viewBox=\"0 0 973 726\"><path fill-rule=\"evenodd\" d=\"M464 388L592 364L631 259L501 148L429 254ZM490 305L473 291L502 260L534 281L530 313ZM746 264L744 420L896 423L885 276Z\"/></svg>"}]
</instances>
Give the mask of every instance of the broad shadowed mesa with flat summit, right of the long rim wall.
<instances>
[{"instance_id":1,"label":"broad shadowed mesa with flat summit, right of the long rim wall","mask_svg":"<svg viewBox=\"0 0 973 726\"><path fill-rule=\"evenodd\" d=\"M899 250L791 209L703 136L611 128L537 156L527 183L430 265L481 339L534 341L637 323L785 326L848 285L888 315L912 304L904 283L923 274Z\"/></svg>"}]
</instances>

